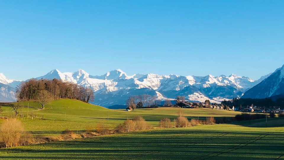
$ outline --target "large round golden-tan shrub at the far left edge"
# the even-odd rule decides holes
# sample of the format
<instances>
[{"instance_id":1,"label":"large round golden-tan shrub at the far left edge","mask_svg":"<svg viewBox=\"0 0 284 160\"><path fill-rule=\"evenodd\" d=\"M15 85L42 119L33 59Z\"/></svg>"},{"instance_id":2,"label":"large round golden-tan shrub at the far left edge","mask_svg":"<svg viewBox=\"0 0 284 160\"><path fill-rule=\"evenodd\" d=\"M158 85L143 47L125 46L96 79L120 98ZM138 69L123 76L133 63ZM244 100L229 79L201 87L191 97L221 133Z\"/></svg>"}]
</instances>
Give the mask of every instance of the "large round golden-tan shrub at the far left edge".
<instances>
[{"instance_id":1,"label":"large round golden-tan shrub at the far left edge","mask_svg":"<svg viewBox=\"0 0 284 160\"><path fill-rule=\"evenodd\" d=\"M5 147L21 145L20 139L24 133L24 127L21 122L16 119L7 119L0 127L1 140L3 140Z\"/></svg>"}]
</instances>

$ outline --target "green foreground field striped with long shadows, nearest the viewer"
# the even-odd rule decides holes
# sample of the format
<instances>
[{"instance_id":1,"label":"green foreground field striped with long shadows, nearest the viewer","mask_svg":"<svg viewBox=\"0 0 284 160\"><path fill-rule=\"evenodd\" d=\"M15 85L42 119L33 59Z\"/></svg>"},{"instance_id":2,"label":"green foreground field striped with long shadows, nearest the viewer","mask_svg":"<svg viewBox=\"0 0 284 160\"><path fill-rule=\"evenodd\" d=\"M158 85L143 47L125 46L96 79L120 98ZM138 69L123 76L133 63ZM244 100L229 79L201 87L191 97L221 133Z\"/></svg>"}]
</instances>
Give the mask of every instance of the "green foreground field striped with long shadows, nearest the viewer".
<instances>
[{"instance_id":1,"label":"green foreground field striped with long shadows, nearest the viewer","mask_svg":"<svg viewBox=\"0 0 284 160\"><path fill-rule=\"evenodd\" d=\"M284 159L284 127L203 125L0 149L0 159Z\"/></svg>"}]
</instances>

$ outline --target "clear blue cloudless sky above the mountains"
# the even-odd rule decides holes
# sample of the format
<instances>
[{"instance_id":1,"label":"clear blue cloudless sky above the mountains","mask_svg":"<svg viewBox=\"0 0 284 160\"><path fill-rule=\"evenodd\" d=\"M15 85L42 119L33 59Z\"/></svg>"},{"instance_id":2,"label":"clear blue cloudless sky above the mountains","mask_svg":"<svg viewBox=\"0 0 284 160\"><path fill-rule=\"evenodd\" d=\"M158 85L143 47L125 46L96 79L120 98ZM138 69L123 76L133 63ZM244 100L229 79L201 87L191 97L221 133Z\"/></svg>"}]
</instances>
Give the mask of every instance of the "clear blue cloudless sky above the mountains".
<instances>
[{"instance_id":1,"label":"clear blue cloudless sky above the mountains","mask_svg":"<svg viewBox=\"0 0 284 160\"><path fill-rule=\"evenodd\" d=\"M0 1L0 73L259 79L284 64L284 1Z\"/></svg>"}]
</instances>

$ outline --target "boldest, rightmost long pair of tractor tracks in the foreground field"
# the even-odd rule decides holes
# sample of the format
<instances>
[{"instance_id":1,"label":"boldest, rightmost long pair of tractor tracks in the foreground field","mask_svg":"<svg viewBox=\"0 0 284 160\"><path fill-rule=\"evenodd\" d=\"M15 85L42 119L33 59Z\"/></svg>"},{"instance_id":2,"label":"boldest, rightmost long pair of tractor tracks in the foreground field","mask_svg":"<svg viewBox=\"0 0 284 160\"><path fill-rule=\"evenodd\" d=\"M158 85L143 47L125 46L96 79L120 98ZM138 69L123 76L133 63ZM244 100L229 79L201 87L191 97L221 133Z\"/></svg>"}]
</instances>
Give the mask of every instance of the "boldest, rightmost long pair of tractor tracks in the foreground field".
<instances>
[{"instance_id":1,"label":"boldest, rightmost long pair of tractor tracks in the foreground field","mask_svg":"<svg viewBox=\"0 0 284 160\"><path fill-rule=\"evenodd\" d=\"M241 143L241 144L235 145L235 146L233 146L233 147L230 147L230 148L227 148L227 149L224 149L224 150L221 150L221 151L217 151L217 152L214 152L214 153L210 153L210 154L207 154L207 155L204 155L204 156L200 156L200 157L197 157L197 158L194 158L194 159L200 159L200 158L201 158L201 160L202 160L202 159L209 159L209 158L212 158L212 157L215 157L215 156L224 154L224 153L228 153L228 152L231 152L231 151L235 151L235 150L240 149L240 148L242 148L242 147L244 147L244 146L246 146L246 145L249 145L249 144L251 144L251 143L254 143L254 142L256 142L256 141L258 141L258 140L260 140L260 139L262 139L262 138L264 138L264 137L266 137L266 136L268 136L268 135L270 135L270 134L273 134L273 133L276 133L276 132L280 132L280 131L281 131L281 130L275 131L275 132L263 133L263 134L261 134L261 135L259 135L259 136L257 136L257 137L254 137L253 139L247 140L246 142L243 142L243 143ZM247 144L245 144L245 143L247 143ZM227 150L229 150L229 151L227 151ZM216 153L217 153L217 154L216 154ZM216 154L216 155L212 155L212 154ZM211 155L211 156L209 156L209 155ZM283 154L283 155L284 155L284 154ZM283 156L283 155L282 155L282 156ZM209 156L209 157L206 157L206 156ZM204 158L204 157L206 157L206 158ZM280 157L281 157L281 156L280 156ZM278 157L277 159L279 159L280 157ZM194 160L194 159L191 159L191 160Z\"/></svg>"}]
</instances>

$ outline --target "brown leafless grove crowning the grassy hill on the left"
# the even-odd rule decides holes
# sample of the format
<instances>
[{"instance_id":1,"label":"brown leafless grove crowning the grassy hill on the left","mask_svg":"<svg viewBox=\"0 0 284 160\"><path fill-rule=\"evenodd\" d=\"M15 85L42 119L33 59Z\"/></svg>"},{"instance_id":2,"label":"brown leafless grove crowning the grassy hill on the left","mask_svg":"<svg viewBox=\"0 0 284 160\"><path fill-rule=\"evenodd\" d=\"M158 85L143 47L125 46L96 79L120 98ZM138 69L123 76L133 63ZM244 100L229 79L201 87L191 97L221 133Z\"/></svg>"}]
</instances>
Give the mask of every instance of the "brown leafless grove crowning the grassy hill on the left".
<instances>
[{"instance_id":1,"label":"brown leafless grove crowning the grassy hill on the left","mask_svg":"<svg viewBox=\"0 0 284 160\"><path fill-rule=\"evenodd\" d=\"M16 95L18 101L38 100L42 108L49 100L76 99L86 103L94 100L91 88L84 88L59 79L30 79L17 87Z\"/></svg>"}]
</instances>

